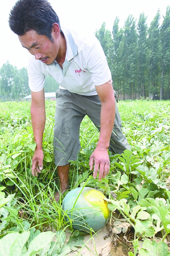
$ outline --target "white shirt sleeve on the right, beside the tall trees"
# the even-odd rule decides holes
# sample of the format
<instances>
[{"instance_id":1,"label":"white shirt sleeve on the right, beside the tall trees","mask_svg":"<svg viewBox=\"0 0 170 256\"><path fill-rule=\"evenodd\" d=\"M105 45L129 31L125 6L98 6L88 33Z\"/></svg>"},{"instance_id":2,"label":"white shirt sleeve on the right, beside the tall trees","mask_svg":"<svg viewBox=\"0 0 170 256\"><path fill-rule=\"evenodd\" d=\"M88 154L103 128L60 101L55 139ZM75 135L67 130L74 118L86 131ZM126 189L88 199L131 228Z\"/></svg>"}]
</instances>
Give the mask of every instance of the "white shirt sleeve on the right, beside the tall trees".
<instances>
[{"instance_id":1,"label":"white shirt sleeve on the right, beside the tall trees","mask_svg":"<svg viewBox=\"0 0 170 256\"><path fill-rule=\"evenodd\" d=\"M102 85L112 79L106 56L96 37L86 54L85 63L95 85Z\"/></svg>"}]
</instances>

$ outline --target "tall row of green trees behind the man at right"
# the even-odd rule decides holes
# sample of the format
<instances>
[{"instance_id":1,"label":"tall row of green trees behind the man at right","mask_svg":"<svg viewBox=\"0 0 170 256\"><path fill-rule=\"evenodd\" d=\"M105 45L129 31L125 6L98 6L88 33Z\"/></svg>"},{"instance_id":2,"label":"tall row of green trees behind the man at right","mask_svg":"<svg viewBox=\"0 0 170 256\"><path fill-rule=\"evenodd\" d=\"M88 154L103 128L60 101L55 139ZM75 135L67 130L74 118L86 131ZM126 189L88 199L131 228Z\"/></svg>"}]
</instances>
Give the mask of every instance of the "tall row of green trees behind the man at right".
<instances>
[{"instance_id":1,"label":"tall row of green trees behind the man at right","mask_svg":"<svg viewBox=\"0 0 170 256\"><path fill-rule=\"evenodd\" d=\"M145 13L141 13L138 21L129 15L120 29L116 17L112 35L103 23L95 35L120 99L170 98L170 6L162 25L158 10L149 27Z\"/></svg>"}]
</instances>

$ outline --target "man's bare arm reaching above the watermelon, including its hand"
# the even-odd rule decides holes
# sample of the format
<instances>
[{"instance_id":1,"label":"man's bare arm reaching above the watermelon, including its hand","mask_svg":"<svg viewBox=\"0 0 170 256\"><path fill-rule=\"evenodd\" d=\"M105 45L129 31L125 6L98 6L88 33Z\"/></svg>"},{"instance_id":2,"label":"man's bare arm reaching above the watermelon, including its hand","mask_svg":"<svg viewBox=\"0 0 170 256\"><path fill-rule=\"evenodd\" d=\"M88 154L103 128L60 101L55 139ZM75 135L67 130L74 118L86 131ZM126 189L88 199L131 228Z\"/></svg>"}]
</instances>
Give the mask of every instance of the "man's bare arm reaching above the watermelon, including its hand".
<instances>
[{"instance_id":1,"label":"man's bare arm reaching above the watermelon, including its hand","mask_svg":"<svg viewBox=\"0 0 170 256\"><path fill-rule=\"evenodd\" d=\"M109 172L108 147L115 121L115 96L113 86L109 82L96 86L96 91L102 103L100 136L97 147L90 156L89 166L92 171L95 162L93 177L96 179L99 170L99 180L105 178Z\"/></svg>"}]
</instances>

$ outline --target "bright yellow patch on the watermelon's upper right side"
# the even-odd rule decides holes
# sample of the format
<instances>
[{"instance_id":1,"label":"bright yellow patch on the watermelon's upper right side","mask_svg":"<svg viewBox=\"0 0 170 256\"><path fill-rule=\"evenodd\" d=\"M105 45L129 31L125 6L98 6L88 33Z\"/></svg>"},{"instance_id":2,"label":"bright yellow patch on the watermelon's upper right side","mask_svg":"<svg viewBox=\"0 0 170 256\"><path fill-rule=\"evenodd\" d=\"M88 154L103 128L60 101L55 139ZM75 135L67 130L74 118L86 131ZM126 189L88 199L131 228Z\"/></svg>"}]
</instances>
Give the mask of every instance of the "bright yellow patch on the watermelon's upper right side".
<instances>
[{"instance_id":1,"label":"bright yellow patch on the watermelon's upper right side","mask_svg":"<svg viewBox=\"0 0 170 256\"><path fill-rule=\"evenodd\" d=\"M109 217L109 210L107 208L107 201L103 198L105 197L100 191L95 189L86 189L83 191L84 199L89 202L93 207L99 208L105 219Z\"/></svg>"}]
</instances>

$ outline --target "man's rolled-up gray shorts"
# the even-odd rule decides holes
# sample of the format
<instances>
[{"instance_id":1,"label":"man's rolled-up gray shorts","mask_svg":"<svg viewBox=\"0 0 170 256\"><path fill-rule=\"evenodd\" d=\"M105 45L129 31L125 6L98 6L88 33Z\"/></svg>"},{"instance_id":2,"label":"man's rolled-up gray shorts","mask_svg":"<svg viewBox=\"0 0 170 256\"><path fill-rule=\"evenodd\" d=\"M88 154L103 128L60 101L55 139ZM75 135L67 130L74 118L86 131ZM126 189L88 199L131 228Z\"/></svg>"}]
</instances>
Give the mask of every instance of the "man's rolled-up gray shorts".
<instances>
[{"instance_id":1,"label":"man's rolled-up gray shorts","mask_svg":"<svg viewBox=\"0 0 170 256\"><path fill-rule=\"evenodd\" d=\"M68 160L77 160L81 148L79 140L80 124L85 115L91 119L100 131L101 101L98 95L82 96L62 89L56 91L56 98L54 159L55 165L62 166L68 164ZM113 131L109 150L121 154L125 149L130 149L126 137L121 131L121 118L117 104Z\"/></svg>"}]
</instances>

